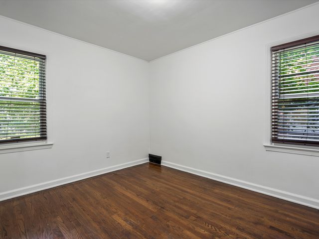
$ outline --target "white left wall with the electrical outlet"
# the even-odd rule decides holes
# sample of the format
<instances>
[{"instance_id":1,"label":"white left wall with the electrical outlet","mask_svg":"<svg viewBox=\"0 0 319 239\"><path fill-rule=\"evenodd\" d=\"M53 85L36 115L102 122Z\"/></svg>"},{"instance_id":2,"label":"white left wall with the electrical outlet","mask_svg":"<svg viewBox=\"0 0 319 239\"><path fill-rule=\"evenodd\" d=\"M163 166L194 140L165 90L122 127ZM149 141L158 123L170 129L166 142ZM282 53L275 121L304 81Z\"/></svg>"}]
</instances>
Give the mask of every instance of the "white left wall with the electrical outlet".
<instances>
[{"instance_id":1,"label":"white left wall with the electrical outlet","mask_svg":"<svg viewBox=\"0 0 319 239\"><path fill-rule=\"evenodd\" d=\"M14 196L10 190L147 158L148 62L4 17L0 29L0 45L47 56L54 143L0 154L0 199Z\"/></svg>"}]
</instances>

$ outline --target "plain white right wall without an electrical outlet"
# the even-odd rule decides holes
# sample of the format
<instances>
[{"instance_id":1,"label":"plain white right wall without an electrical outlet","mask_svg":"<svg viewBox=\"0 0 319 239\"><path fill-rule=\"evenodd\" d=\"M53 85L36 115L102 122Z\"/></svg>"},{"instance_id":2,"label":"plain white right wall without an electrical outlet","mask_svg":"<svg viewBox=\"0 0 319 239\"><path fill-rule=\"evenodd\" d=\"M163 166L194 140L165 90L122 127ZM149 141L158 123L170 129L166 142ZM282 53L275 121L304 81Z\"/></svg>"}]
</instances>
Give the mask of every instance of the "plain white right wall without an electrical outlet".
<instances>
[{"instance_id":1,"label":"plain white right wall without an electrical outlet","mask_svg":"<svg viewBox=\"0 0 319 239\"><path fill-rule=\"evenodd\" d=\"M303 203L319 207L319 157L263 146L267 50L319 34L318 12L313 5L151 62L151 153L257 191L310 197Z\"/></svg>"}]
</instances>

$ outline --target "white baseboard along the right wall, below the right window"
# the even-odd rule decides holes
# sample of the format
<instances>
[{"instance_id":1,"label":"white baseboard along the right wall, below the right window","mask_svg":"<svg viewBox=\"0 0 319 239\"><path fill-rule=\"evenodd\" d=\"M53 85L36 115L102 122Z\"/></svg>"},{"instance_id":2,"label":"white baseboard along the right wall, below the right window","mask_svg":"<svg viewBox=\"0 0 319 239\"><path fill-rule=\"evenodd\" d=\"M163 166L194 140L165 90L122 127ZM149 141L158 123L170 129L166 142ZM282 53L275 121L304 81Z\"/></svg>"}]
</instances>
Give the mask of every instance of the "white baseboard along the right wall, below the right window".
<instances>
[{"instance_id":1,"label":"white baseboard along the right wall, below the right window","mask_svg":"<svg viewBox=\"0 0 319 239\"><path fill-rule=\"evenodd\" d=\"M234 185L234 186L237 186L240 188L245 188L245 189L248 189L248 190L251 190L254 192L266 194L266 195L273 196L273 197L280 198L280 199L284 199L284 200L287 200L287 201L290 201L293 203L298 203L301 205L305 205L308 207L319 209L319 200L315 199L315 198L305 197L302 195L282 191L282 190L275 189L275 188L262 186L262 185L255 184L255 183L246 182L243 180L227 177L227 176L216 174L216 173L207 172L207 171L200 170L200 169L195 169L195 168L183 166L183 165L168 162L168 161L161 161L161 164L164 166L170 167L170 168L178 169L178 170L192 173L192 174L202 176L205 178L210 178L210 179L213 179L213 180L216 180L219 182L227 183L227 184Z\"/></svg>"}]
</instances>

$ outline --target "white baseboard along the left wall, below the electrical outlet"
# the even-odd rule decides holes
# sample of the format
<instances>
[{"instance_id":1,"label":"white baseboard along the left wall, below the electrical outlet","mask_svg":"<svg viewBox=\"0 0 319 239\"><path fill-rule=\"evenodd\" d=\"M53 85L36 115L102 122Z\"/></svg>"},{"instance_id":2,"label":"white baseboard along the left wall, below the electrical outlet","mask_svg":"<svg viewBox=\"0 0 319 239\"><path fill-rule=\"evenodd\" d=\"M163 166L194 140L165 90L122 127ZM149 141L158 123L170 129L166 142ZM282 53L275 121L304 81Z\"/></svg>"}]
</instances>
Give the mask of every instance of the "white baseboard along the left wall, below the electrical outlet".
<instances>
[{"instance_id":1,"label":"white baseboard along the left wall, below the electrical outlet","mask_svg":"<svg viewBox=\"0 0 319 239\"><path fill-rule=\"evenodd\" d=\"M5 191L5 192L0 193L0 201L7 200L10 198L19 197L19 196L29 194L29 193L34 193L34 192L41 191L41 190L48 189L48 188L53 188L53 187L60 186L63 184L72 183L75 181L94 177L94 176L101 175L104 173L117 171L117 170L120 170L123 168L132 167L135 165L146 163L148 161L149 161L148 158L138 159L135 161L117 164L117 165L110 166L107 168L97 169L97 170L93 170L93 171L89 171L89 172L85 172L85 173L80 173L80 174L76 174L76 175L65 177L65 178L60 178L60 179L47 181L44 183L39 183L39 184L35 184L35 185L23 187L23 188Z\"/></svg>"}]
</instances>

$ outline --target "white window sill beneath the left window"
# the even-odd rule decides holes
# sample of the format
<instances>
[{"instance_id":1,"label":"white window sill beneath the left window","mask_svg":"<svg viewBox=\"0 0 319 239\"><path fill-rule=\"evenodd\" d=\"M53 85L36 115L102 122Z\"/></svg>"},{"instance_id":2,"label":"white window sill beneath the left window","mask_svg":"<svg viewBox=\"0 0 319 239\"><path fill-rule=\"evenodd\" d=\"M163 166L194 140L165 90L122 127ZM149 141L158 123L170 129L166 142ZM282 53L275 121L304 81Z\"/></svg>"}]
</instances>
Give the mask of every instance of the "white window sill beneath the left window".
<instances>
[{"instance_id":1,"label":"white window sill beneath the left window","mask_svg":"<svg viewBox=\"0 0 319 239\"><path fill-rule=\"evenodd\" d=\"M28 143L28 144L7 144L0 145L0 154L2 153L14 153L14 152L22 152L22 151L30 151L30 150L38 150L38 149L46 149L52 148L53 143Z\"/></svg>"}]
</instances>

